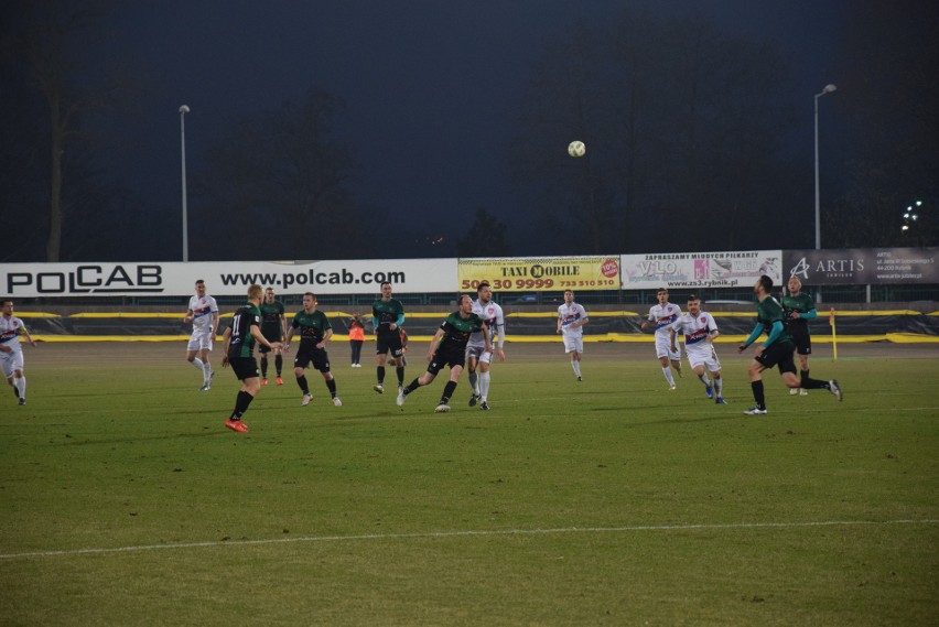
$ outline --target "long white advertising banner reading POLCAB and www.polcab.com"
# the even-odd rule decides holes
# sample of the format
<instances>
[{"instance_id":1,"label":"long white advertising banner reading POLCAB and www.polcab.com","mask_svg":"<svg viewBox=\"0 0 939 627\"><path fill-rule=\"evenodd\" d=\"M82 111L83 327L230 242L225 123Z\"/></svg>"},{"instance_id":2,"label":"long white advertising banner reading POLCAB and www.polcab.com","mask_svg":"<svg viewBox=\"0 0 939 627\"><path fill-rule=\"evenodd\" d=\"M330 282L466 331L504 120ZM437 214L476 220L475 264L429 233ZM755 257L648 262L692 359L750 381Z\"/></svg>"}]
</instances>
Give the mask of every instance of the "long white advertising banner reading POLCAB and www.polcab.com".
<instances>
[{"instance_id":1,"label":"long white advertising banner reading POLCAB and www.polcab.com","mask_svg":"<svg viewBox=\"0 0 939 627\"><path fill-rule=\"evenodd\" d=\"M214 296L244 295L258 283L281 293L360 294L453 290L456 259L373 259L355 261L196 261L129 263L4 263L0 291L10 298L182 296L197 279Z\"/></svg>"}]
</instances>

